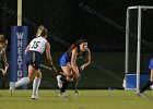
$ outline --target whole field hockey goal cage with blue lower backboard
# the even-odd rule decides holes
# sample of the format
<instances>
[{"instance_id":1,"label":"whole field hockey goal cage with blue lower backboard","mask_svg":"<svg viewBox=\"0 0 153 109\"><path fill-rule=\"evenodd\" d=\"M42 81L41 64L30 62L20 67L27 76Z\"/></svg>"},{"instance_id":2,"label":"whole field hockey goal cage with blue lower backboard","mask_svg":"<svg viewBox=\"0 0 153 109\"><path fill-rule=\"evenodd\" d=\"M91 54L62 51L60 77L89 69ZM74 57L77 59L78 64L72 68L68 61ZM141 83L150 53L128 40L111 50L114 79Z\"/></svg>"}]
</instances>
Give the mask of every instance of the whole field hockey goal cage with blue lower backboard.
<instances>
[{"instance_id":1,"label":"whole field hockey goal cage with blue lower backboard","mask_svg":"<svg viewBox=\"0 0 153 109\"><path fill-rule=\"evenodd\" d=\"M148 69L153 48L153 7L137 5L127 9L125 89L137 89L150 77Z\"/></svg>"}]
</instances>

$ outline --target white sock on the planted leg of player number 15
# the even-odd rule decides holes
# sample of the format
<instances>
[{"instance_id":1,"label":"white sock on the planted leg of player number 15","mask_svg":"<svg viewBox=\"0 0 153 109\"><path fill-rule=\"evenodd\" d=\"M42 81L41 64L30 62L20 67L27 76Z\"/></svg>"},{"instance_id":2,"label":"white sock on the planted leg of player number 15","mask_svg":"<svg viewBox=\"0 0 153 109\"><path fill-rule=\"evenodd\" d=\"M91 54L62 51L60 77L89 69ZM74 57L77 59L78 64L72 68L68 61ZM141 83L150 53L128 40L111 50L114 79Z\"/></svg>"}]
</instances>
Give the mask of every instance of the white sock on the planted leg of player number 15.
<instances>
[{"instance_id":1,"label":"white sock on the planted leg of player number 15","mask_svg":"<svg viewBox=\"0 0 153 109\"><path fill-rule=\"evenodd\" d=\"M40 84L40 77L35 77L35 80L33 82L33 95L34 96L38 96L39 84Z\"/></svg>"}]
</instances>

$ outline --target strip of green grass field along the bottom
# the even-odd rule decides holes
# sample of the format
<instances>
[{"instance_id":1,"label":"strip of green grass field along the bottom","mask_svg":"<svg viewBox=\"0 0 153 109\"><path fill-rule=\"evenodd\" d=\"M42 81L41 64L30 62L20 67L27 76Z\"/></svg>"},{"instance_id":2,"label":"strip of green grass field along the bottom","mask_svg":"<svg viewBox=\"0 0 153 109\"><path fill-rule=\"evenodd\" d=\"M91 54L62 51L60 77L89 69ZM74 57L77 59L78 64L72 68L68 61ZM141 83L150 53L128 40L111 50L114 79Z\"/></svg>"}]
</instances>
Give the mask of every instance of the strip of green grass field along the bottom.
<instances>
[{"instance_id":1,"label":"strip of green grass field along the bottom","mask_svg":"<svg viewBox=\"0 0 153 109\"><path fill-rule=\"evenodd\" d=\"M149 97L139 98L133 90L80 90L74 95L68 90L68 97L58 97L58 90L40 89L43 99L31 99L31 89L15 90L14 96L9 90L0 90L0 109L151 109L153 92L148 90Z\"/></svg>"}]
</instances>

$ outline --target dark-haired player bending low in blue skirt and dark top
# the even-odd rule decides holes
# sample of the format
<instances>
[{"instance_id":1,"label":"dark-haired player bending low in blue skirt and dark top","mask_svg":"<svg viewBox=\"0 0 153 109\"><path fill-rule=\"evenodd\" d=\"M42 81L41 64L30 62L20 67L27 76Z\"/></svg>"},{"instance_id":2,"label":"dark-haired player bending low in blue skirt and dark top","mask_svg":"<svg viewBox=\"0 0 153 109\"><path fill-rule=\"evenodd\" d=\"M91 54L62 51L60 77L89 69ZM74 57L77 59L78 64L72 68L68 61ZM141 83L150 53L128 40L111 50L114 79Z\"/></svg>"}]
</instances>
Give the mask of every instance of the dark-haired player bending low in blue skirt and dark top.
<instances>
[{"instance_id":1,"label":"dark-haired player bending low in blue skirt and dark top","mask_svg":"<svg viewBox=\"0 0 153 109\"><path fill-rule=\"evenodd\" d=\"M76 60L79 57L85 56L86 62L78 68ZM91 51L87 48L87 41L85 39L79 39L70 46L60 58L61 75L57 76L58 87L60 88L59 96L67 96L66 89L72 81L80 78L80 70L83 70L91 63ZM80 69L80 70L79 70Z\"/></svg>"}]
</instances>

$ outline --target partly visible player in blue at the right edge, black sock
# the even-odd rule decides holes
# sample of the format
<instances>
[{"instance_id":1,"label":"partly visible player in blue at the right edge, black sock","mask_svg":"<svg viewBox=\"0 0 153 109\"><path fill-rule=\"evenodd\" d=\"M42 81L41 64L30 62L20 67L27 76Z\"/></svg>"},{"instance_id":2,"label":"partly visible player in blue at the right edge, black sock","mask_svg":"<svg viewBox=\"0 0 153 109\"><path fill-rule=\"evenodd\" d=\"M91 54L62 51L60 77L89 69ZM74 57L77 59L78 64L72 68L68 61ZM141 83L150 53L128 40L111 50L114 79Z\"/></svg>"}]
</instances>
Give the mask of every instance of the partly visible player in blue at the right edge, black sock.
<instances>
[{"instance_id":1,"label":"partly visible player in blue at the right edge, black sock","mask_svg":"<svg viewBox=\"0 0 153 109\"><path fill-rule=\"evenodd\" d=\"M140 92L137 92L140 97L144 97L143 93L153 84L153 58L150 60L149 69L151 73L150 80L141 87Z\"/></svg>"}]
</instances>

